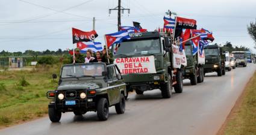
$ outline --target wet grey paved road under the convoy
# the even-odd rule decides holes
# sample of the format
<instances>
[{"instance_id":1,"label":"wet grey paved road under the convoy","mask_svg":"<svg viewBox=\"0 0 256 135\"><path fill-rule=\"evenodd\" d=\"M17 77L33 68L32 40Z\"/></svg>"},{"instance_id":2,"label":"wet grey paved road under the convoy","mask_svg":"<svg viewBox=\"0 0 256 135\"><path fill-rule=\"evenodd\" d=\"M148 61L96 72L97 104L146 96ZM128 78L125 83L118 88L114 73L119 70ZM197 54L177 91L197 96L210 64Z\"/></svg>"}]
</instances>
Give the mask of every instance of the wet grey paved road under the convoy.
<instances>
[{"instance_id":1,"label":"wet grey paved road under the convoy","mask_svg":"<svg viewBox=\"0 0 256 135\"><path fill-rule=\"evenodd\" d=\"M131 94L125 114L116 115L111 107L108 121L98 121L93 112L65 113L60 123L52 124L46 117L0 130L0 134L216 134L255 70L256 65L249 64L222 77L208 73L197 86L184 80L184 92L169 99L162 99L158 90Z\"/></svg>"}]
</instances>

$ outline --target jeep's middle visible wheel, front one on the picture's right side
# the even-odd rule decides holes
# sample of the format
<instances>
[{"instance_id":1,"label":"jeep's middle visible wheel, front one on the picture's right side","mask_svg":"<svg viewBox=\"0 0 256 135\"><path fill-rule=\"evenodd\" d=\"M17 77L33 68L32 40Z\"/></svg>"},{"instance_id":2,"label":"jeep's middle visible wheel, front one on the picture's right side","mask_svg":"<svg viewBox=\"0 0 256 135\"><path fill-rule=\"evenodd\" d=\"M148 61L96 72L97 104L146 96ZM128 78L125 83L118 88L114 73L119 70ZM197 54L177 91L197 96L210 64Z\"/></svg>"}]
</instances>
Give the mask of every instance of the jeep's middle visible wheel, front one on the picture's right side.
<instances>
[{"instance_id":1,"label":"jeep's middle visible wheel, front one on the picture's right side","mask_svg":"<svg viewBox=\"0 0 256 135\"><path fill-rule=\"evenodd\" d=\"M100 121L106 121L108 119L108 100L106 98L100 98L97 103L97 116Z\"/></svg>"}]
</instances>

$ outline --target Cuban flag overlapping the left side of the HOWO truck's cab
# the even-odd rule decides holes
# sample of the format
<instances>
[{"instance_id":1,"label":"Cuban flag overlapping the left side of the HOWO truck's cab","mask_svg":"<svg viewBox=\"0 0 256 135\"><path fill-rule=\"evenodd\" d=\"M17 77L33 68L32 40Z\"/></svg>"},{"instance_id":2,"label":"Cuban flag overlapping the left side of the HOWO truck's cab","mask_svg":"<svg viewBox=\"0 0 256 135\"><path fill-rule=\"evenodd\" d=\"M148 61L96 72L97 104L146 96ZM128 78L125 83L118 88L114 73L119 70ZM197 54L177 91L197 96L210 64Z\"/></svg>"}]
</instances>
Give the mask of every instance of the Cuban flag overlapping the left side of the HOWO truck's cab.
<instances>
[{"instance_id":1,"label":"Cuban flag overlapping the left side of the HOWO truck's cab","mask_svg":"<svg viewBox=\"0 0 256 135\"><path fill-rule=\"evenodd\" d=\"M113 44L121 43L123 40L130 40L130 35L128 31L119 31L112 34L105 35L106 44L109 48Z\"/></svg>"}]
</instances>

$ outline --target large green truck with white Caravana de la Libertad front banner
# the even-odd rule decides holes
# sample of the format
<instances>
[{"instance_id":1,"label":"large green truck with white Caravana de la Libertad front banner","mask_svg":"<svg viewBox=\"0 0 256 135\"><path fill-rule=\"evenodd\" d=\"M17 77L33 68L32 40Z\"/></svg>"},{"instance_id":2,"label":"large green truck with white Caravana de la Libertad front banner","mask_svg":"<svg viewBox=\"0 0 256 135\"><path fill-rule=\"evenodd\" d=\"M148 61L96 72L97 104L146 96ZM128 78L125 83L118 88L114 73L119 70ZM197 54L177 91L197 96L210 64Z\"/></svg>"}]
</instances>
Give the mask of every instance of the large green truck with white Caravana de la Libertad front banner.
<instances>
[{"instance_id":1,"label":"large green truck with white Caravana de la Libertad front banner","mask_svg":"<svg viewBox=\"0 0 256 135\"><path fill-rule=\"evenodd\" d=\"M163 98L170 98L172 86L176 93L183 92L183 65L186 56L172 45L166 34L137 32L130 40L115 44L112 51L114 64L119 67L126 83L126 91L160 89ZM185 64L184 64L185 65Z\"/></svg>"}]
</instances>

